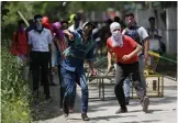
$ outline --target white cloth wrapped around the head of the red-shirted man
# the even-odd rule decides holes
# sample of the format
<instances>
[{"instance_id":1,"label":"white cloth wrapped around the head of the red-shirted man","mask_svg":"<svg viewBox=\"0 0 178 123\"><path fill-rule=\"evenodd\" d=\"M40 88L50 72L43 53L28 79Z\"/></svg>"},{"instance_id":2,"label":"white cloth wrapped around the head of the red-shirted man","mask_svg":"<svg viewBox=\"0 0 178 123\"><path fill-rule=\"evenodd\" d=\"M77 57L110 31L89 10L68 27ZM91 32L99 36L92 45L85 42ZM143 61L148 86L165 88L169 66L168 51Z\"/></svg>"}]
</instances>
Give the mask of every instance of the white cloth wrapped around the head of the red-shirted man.
<instances>
[{"instance_id":1,"label":"white cloth wrapped around the head of the red-shirted man","mask_svg":"<svg viewBox=\"0 0 178 123\"><path fill-rule=\"evenodd\" d=\"M111 31L111 41L113 47L122 47L123 46L123 38L121 33L121 25L116 22L111 23L110 25Z\"/></svg>"}]
</instances>

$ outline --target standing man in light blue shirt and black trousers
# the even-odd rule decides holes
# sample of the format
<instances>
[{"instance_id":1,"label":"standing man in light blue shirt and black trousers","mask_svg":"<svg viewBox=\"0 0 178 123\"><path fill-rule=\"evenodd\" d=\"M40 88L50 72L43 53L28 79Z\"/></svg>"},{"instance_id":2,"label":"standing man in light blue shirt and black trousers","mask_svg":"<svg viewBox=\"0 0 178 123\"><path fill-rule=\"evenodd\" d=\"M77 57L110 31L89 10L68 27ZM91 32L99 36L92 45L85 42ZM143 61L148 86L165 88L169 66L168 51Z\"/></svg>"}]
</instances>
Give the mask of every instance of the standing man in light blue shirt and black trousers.
<instances>
[{"instance_id":1,"label":"standing man in light blue shirt and black trousers","mask_svg":"<svg viewBox=\"0 0 178 123\"><path fill-rule=\"evenodd\" d=\"M34 15L35 29L29 32L29 54L31 58L33 92L38 97L40 68L44 77L45 99L51 100L49 81L48 81L48 62L51 58L52 33L42 25L42 15Z\"/></svg>"}]
</instances>

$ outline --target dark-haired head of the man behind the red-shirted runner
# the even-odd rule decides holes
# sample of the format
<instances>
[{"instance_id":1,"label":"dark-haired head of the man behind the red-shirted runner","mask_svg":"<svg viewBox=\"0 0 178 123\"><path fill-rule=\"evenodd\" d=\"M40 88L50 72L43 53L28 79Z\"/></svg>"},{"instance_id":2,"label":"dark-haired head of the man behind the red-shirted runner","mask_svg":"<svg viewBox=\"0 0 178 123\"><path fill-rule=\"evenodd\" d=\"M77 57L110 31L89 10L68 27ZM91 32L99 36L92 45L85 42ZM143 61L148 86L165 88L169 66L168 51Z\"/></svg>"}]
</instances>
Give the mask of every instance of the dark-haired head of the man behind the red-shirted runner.
<instances>
[{"instance_id":1,"label":"dark-haired head of the man behind the red-shirted runner","mask_svg":"<svg viewBox=\"0 0 178 123\"><path fill-rule=\"evenodd\" d=\"M132 27L136 25L136 21L132 12L125 14L125 23L127 27Z\"/></svg>"}]
</instances>

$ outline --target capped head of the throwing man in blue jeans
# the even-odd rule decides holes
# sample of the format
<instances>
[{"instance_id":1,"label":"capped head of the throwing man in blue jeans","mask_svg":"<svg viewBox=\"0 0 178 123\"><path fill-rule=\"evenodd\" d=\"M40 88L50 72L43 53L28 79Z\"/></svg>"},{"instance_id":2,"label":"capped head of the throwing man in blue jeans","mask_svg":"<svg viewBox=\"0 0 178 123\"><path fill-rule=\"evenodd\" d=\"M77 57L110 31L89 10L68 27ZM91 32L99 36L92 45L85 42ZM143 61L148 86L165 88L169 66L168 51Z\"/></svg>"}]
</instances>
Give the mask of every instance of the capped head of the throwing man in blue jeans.
<instances>
[{"instance_id":1,"label":"capped head of the throwing man in blue jeans","mask_svg":"<svg viewBox=\"0 0 178 123\"><path fill-rule=\"evenodd\" d=\"M92 33L92 30L97 27L96 24L93 24L92 22L86 22L82 24L82 32L84 32L84 35L91 35Z\"/></svg>"}]
</instances>

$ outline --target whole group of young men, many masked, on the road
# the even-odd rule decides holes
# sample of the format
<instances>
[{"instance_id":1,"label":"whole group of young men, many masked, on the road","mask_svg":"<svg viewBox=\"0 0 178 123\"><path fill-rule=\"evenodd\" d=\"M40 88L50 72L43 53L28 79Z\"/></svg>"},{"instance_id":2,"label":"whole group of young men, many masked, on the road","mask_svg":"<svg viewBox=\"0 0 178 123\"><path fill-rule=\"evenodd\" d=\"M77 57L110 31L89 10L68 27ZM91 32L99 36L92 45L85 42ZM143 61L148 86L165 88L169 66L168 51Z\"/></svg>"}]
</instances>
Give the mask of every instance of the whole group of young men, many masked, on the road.
<instances>
[{"instance_id":1,"label":"whole group of young men, many masked, on the road","mask_svg":"<svg viewBox=\"0 0 178 123\"><path fill-rule=\"evenodd\" d=\"M125 23L127 27L123 30L115 18L110 24L110 35L105 41L108 72L112 67L111 59L115 57L114 93L121 107L115 113L127 112L131 82L141 98L143 111L147 112L149 98L146 97L144 65L148 59L149 36L146 30L136 23L133 13L125 15ZM53 82L52 72L57 70L60 85L59 103L65 116L74 111L78 83L81 87L81 118L88 121L89 90L84 64L88 60L91 75L97 75L93 66L97 42L92 37L93 30L97 27L96 23L85 22L80 26L80 18L71 14L69 21L52 24L47 16L35 14L34 24L30 24L26 31L22 20L18 25L19 30L13 34L11 53L20 60L30 62L33 96L38 97L38 81L41 80L45 99L52 99L49 81Z\"/></svg>"}]
</instances>

